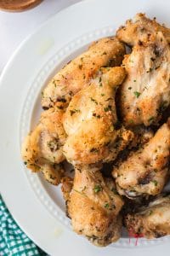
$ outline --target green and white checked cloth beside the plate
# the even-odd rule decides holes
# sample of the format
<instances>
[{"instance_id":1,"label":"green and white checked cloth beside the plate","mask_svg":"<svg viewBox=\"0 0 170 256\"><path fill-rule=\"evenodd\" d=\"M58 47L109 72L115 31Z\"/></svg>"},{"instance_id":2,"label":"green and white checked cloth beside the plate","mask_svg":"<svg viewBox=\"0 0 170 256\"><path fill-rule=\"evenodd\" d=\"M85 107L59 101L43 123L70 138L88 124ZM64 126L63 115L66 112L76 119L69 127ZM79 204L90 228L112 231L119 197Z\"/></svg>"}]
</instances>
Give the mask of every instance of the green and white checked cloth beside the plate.
<instances>
[{"instance_id":1,"label":"green and white checked cloth beside the plate","mask_svg":"<svg viewBox=\"0 0 170 256\"><path fill-rule=\"evenodd\" d=\"M47 255L37 247L15 223L0 195L0 255Z\"/></svg>"}]
</instances>

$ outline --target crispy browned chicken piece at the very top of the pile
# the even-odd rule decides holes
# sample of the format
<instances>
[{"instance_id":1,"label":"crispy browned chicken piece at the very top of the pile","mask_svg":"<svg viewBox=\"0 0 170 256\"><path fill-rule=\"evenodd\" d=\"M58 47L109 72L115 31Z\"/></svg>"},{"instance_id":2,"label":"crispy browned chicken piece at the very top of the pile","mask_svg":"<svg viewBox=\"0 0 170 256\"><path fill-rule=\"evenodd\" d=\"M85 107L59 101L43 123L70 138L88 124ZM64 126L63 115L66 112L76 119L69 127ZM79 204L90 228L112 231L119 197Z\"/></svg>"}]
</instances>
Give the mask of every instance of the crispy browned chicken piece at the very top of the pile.
<instances>
[{"instance_id":1,"label":"crispy browned chicken piece at the very top of the pile","mask_svg":"<svg viewBox=\"0 0 170 256\"><path fill-rule=\"evenodd\" d=\"M157 32L162 32L163 36L170 43L170 29L156 22L156 19L150 20L144 14L137 14L133 20L127 20L125 26L121 26L116 36L123 43L130 46L154 40Z\"/></svg>"}]
</instances>

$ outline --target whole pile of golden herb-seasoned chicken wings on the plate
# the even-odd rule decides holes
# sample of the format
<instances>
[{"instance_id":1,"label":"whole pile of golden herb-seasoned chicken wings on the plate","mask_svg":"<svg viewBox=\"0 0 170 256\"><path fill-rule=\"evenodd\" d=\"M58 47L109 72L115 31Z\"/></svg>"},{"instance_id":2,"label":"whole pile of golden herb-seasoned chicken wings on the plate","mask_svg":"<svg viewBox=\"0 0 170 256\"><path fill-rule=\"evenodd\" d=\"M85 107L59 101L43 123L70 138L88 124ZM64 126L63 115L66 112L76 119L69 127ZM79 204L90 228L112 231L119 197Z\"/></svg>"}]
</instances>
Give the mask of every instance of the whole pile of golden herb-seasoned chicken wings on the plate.
<instances>
[{"instance_id":1,"label":"whole pile of golden herb-seasoned chicken wings on the plate","mask_svg":"<svg viewBox=\"0 0 170 256\"><path fill-rule=\"evenodd\" d=\"M170 29L135 15L42 91L23 160L62 183L73 230L94 245L117 241L122 225L146 238L170 235L170 196L161 193L170 173L169 44Z\"/></svg>"}]
</instances>

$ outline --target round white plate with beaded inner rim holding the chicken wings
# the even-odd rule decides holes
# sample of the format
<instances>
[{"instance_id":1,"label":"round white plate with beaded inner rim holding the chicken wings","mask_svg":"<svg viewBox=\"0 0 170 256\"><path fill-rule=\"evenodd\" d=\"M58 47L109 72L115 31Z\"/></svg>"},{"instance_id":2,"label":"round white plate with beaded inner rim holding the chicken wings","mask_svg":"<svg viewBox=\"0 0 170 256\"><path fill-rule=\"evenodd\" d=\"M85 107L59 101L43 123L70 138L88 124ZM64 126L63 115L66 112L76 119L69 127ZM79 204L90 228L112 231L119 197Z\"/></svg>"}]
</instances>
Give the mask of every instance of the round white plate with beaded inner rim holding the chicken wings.
<instances>
[{"instance_id":1,"label":"round white plate with beaded inner rim holding the chicken wings","mask_svg":"<svg viewBox=\"0 0 170 256\"><path fill-rule=\"evenodd\" d=\"M59 187L26 170L20 159L20 143L37 122L42 88L56 70L86 49L89 43L114 34L118 26L137 12L156 16L169 25L169 9L170 2L166 0L77 3L55 15L27 38L3 71L0 81L1 192L20 227L52 255L70 252L75 256L80 253L82 256L112 255L114 247L134 247L135 241L129 243L122 237L106 248L92 246L71 231ZM169 238L140 239L138 247L164 241Z\"/></svg>"}]
</instances>

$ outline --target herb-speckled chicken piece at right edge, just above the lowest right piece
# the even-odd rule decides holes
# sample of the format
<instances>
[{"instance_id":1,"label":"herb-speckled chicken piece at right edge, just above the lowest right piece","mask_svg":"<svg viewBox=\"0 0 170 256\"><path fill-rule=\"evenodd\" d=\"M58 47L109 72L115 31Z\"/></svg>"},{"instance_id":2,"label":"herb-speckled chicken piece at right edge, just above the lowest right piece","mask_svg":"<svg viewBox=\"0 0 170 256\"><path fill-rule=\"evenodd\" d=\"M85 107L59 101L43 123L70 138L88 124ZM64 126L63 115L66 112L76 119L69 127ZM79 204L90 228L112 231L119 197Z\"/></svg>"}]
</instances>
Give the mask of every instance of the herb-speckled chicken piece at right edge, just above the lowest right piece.
<instances>
[{"instance_id":1,"label":"herb-speckled chicken piece at right edge, just above the lowest right piece","mask_svg":"<svg viewBox=\"0 0 170 256\"><path fill-rule=\"evenodd\" d=\"M164 124L154 137L118 168L113 169L120 195L158 195L166 181L170 155L170 127Z\"/></svg>"}]
</instances>

